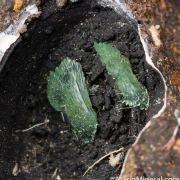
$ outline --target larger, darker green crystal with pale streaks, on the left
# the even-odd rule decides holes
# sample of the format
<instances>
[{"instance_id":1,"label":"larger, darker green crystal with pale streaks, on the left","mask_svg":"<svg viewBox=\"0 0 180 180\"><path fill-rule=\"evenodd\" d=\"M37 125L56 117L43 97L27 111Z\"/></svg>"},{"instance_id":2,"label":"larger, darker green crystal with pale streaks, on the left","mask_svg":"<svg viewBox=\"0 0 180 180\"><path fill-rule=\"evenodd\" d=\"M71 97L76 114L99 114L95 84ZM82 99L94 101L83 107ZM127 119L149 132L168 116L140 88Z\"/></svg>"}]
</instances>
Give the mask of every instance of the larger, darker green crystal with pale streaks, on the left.
<instances>
[{"instance_id":1,"label":"larger, darker green crystal with pale streaks, on the left","mask_svg":"<svg viewBox=\"0 0 180 180\"><path fill-rule=\"evenodd\" d=\"M66 58L50 72L47 96L56 111L66 113L77 138L84 144L91 143L97 129L97 116L78 62Z\"/></svg>"}]
</instances>

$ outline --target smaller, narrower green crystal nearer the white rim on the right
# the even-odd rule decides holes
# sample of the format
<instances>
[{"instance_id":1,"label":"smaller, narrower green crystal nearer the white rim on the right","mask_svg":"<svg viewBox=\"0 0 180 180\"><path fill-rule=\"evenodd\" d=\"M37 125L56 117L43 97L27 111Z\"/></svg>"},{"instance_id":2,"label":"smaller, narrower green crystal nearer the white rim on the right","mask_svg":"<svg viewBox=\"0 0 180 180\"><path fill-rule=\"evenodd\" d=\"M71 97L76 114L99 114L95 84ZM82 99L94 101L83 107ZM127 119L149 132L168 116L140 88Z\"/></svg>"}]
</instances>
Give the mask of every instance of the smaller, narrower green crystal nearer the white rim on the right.
<instances>
[{"instance_id":1,"label":"smaller, narrower green crystal nearer the white rim on the right","mask_svg":"<svg viewBox=\"0 0 180 180\"><path fill-rule=\"evenodd\" d=\"M115 80L115 91L122 102L130 107L149 107L149 96L147 89L138 81L134 75L128 58L111 44L95 43L94 48L100 57L107 72Z\"/></svg>"}]
</instances>

